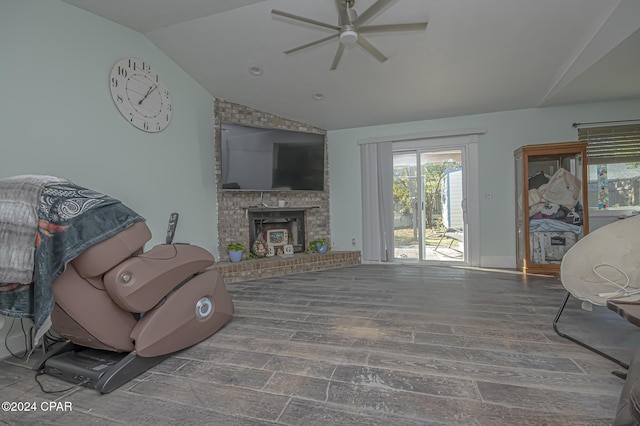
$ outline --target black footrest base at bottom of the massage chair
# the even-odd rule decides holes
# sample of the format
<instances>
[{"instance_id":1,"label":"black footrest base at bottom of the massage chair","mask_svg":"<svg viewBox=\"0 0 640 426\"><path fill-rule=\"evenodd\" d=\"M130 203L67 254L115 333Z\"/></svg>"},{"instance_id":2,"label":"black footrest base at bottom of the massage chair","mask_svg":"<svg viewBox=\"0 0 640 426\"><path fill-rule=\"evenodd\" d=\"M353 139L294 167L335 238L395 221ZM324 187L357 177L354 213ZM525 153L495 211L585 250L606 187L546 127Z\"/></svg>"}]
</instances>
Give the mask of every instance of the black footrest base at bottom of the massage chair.
<instances>
[{"instance_id":1,"label":"black footrest base at bottom of the massage chair","mask_svg":"<svg viewBox=\"0 0 640 426\"><path fill-rule=\"evenodd\" d=\"M171 356L144 358L135 352L110 352L73 344L68 349L45 361L45 374L103 394L114 391Z\"/></svg>"}]
</instances>

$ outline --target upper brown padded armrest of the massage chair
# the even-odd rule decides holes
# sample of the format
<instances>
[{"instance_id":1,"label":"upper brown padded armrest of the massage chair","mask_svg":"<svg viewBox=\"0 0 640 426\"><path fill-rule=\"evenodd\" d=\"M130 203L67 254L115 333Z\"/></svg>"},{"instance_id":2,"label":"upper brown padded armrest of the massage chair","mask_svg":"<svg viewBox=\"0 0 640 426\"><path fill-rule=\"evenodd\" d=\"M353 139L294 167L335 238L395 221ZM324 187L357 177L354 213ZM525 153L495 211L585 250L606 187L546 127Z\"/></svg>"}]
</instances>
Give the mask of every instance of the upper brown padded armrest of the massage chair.
<instances>
[{"instance_id":1,"label":"upper brown padded armrest of the massage chair","mask_svg":"<svg viewBox=\"0 0 640 426\"><path fill-rule=\"evenodd\" d=\"M186 244L162 244L131 257L104 276L113 301L129 312L146 312L192 275L213 265L211 253Z\"/></svg>"}]
</instances>

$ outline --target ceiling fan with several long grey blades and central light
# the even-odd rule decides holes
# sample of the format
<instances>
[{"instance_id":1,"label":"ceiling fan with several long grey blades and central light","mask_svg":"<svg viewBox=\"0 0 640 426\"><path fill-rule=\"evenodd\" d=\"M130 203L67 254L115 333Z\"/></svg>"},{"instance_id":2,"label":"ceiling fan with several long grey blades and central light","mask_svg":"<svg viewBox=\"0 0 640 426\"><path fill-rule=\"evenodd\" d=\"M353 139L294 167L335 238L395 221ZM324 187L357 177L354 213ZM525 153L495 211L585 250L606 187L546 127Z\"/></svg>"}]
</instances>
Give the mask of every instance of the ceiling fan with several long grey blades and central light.
<instances>
[{"instance_id":1,"label":"ceiling fan with several long grey blades and central light","mask_svg":"<svg viewBox=\"0 0 640 426\"><path fill-rule=\"evenodd\" d=\"M337 33L330 35L329 37L321 38L320 40L312 41L311 43L303 44L302 46L294 47L293 49L285 50L285 54L297 52L307 47L315 46L325 41L329 41L333 38L337 38L340 41L338 50L333 57L331 63L331 70L335 70L338 67L338 63L342 58L345 46L354 44L360 45L364 50L373 55L380 62L387 60L387 57L376 49L362 34L366 33L384 33L384 32L396 32L396 31L420 31L427 28L427 22L420 22L415 24L388 24L388 25L364 25L373 16L375 16L380 10L382 10L389 3L394 0L378 0L371 7L365 10L360 16L353 9L355 0L335 0L338 7L338 25L331 25L324 22L316 21L314 19L305 18L303 16L293 15L288 12L273 9L271 13L274 15L284 16L285 18L294 19L296 21L306 22L308 24L317 25L323 28L329 28L336 30Z\"/></svg>"}]
</instances>

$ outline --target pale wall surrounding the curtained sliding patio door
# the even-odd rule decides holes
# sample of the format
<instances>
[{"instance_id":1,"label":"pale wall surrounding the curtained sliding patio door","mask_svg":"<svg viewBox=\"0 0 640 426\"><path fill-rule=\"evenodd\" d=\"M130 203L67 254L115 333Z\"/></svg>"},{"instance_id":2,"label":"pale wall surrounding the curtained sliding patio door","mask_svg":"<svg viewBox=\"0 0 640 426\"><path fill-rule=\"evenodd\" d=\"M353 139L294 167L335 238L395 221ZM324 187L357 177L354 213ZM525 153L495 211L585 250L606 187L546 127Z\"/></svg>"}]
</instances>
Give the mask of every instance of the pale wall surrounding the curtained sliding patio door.
<instances>
[{"instance_id":1,"label":"pale wall surrounding the curtained sliding patio door","mask_svg":"<svg viewBox=\"0 0 640 426\"><path fill-rule=\"evenodd\" d=\"M362 248L358 141L413 133L486 129L479 135L480 256L482 266L515 268L513 151L522 145L575 141L575 122L630 120L640 99L524 109L465 117L330 131L331 235L335 250ZM338 183L339 184L336 184ZM485 198L491 193L492 198ZM352 238L356 246L352 246Z\"/></svg>"}]
</instances>

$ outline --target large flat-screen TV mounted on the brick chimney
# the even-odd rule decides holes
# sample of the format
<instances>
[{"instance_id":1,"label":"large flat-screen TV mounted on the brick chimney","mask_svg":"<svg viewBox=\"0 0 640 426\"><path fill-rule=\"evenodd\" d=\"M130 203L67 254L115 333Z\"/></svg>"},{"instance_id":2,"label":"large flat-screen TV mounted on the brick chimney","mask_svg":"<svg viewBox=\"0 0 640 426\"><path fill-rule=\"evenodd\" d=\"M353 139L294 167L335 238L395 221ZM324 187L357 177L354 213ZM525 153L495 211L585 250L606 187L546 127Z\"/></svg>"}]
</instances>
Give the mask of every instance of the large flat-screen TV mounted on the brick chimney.
<instances>
[{"instance_id":1,"label":"large flat-screen TV mounted on the brick chimney","mask_svg":"<svg viewBox=\"0 0 640 426\"><path fill-rule=\"evenodd\" d=\"M324 191L325 135L220 126L223 190Z\"/></svg>"}]
</instances>

